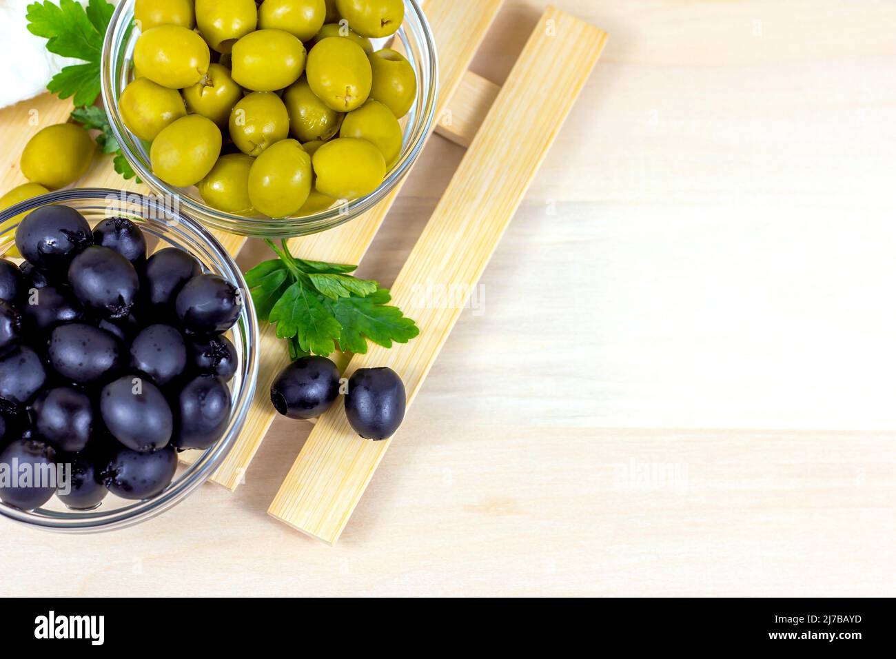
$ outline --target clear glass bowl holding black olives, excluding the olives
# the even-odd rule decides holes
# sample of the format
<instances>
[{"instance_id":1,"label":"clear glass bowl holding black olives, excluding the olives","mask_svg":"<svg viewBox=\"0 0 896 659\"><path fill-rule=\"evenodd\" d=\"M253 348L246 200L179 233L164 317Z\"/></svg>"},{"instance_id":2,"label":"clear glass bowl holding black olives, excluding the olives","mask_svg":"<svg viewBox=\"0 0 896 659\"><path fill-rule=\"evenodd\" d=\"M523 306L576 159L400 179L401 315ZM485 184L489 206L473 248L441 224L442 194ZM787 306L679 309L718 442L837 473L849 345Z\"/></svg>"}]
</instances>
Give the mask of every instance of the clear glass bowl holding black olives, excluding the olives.
<instances>
[{"instance_id":1,"label":"clear glass bowl holding black olives, excluding the olives","mask_svg":"<svg viewBox=\"0 0 896 659\"><path fill-rule=\"evenodd\" d=\"M173 203L133 192L104 188L61 190L29 199L0 212L0 222L15 218L23 212L46 204L71 206L87 219L90 226L109 217L127 217L143 231L150 251L161 247L179 247L189 252L203 264L205 272L215 273L233 283L246 293L248 287L237 264L221 247L211 233L189 216L180 212ZM9 222L0 231L0 256L13 247L18 221ZM18 261L19 259L14 259ZM246 421L246 414L255 391L258 377L258 321L251 304L245 305L237 325L229 332L229 338L237 349L239 364L237 373L229 383L232 411L228 427L216 444L204 451L192 451L190 462L180 461L174 481L152 499L133 501L118 499L108 494L99 507L91 510L73 510L65 507L54 496L44 507L25 511L0 503L0 515L23 524L69 533L110 531L138 524L159 515L182 501L197 487L209 479L237 441ZM184 455L184 454L182 454Z\"/></svg>"}]
</instances>

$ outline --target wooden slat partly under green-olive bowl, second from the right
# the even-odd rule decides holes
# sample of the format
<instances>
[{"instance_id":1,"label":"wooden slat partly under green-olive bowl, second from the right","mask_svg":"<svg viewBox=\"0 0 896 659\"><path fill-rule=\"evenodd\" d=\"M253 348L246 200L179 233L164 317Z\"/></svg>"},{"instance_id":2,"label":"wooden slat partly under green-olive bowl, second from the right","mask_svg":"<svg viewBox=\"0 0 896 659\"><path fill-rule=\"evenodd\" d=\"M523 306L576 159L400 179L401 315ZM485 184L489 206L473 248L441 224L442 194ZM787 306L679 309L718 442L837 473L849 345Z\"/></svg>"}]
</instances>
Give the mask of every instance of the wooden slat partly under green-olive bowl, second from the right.
<instances>
[{"instance_id":1,"label":"wooden slat partly under green-olive bowl, second from the right","mask_svg":"<svg viewBox=\"0 0 896 659\"><path fill-rule=\"evenodd\" d=\"M479 43L500 8L502 0L462 0L461 2L428 2L426 18L435 35L439 56L439 100L436 117L447 107L463 74L470 66ZM401 191L401 184L373 210L336 229L289 240L289 248L297 256L319 261L357 264L373 241L376 230ZM261 364L258 384L246 425L237 443L211 480L233 490L271 427L276 412L271 406L271 383L289 363L286 344L278 339L270 325L263 326L259 342Z\"/></svg>"}]
</instances>

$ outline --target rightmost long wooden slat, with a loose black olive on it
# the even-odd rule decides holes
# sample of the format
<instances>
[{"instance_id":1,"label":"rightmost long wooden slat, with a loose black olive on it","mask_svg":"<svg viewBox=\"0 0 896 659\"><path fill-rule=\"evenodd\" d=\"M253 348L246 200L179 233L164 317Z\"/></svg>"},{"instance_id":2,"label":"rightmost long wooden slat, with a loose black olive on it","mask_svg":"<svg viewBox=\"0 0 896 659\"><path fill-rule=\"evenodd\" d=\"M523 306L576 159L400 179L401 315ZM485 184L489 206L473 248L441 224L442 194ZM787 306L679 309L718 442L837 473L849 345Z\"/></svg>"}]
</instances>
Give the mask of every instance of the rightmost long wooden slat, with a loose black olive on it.
<instances>
[{"instance_id":1,"label":"rightmost long wooden slat, with a loose black olive on it","mask_svg":"<svg viewBox=\"0 0 896 659\"><path fill-rule=\"evenodd\" d=\"M476 284L606 39L555 8L543 14L392 286L395 304L416 319L419 336L388 350L372 346L352 358L347 375L388 366L413 403L466 299L431 304L426 290L469 291ZM340 400L315 424L268 512L336 542L391 443L358 438Z\"/></svg>"}]
</instances>

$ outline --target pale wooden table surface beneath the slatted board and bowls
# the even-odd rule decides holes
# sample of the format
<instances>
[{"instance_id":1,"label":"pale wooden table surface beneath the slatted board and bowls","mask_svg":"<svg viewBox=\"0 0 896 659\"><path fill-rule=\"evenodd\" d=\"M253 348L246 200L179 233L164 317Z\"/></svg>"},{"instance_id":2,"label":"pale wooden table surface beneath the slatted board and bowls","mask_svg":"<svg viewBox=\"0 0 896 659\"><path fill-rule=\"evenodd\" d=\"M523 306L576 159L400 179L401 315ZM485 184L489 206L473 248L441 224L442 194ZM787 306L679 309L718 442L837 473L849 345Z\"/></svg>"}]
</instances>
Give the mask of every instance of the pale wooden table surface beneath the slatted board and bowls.
<instances>
[{"instance_id":1,"label":"pale wooden table surface beneath the slatted board and bowls","mask_svg":"<svg viewBox=\"0 0 896 659\"><path fill-rule=\"evenodd\" d=\"M893 594L896 4L556 4L607 49L340 543L265 514L308 432L277 421L234 494L4 524L0 594ZM361 273L461 155L431 141Z\"/></svg>"}]
</instances>

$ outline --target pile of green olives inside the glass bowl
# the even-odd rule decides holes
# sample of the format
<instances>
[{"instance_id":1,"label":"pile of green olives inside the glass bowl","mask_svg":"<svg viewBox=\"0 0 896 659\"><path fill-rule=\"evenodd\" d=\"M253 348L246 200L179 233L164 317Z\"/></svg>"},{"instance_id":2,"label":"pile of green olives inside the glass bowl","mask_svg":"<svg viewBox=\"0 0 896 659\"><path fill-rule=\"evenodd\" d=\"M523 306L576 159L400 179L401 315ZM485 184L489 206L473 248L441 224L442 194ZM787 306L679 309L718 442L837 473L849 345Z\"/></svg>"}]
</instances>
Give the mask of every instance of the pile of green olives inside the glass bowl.
<instances>
[{"instance_id":1,"label":"pile of green olives inside the glass bowl","mask_svg":"<svg viewBox=\"0 0 896 659\"><path fill-rule=\"evenodd\" d=\"M271 218L373 192L417 98L392 36L402 0L137 0L125 126L153 173L212 208Z\"/></svg>"}]
</instances>

